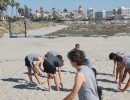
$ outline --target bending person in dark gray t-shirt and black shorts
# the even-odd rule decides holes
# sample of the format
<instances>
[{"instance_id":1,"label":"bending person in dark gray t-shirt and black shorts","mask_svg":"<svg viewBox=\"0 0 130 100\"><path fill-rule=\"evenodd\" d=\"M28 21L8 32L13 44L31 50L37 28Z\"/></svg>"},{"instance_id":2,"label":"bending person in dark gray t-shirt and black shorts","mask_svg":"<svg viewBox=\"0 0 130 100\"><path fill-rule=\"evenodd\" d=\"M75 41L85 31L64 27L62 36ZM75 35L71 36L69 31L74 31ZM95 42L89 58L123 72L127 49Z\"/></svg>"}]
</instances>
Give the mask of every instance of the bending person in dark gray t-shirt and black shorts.
<instances>
[{"instance_id":1,"label":"bending person in dark gray t-shirt and black shorts","mask_svg":"<svg viewBox=\"0 0 130 100\"><path fill-rule=\"evenodd\" d=\"M47 56L43 62L44 72L47 73L47 82L49 91L51 91L50 79L54 78L54 82L56 85L56 90L59 91L58 79L56 74L56 67L61 67L63 62L57 56ZM61 57L61 56L60 56ZM63 88L62 80L60 79L60 85Z\"/></svg>"}]
</instances>

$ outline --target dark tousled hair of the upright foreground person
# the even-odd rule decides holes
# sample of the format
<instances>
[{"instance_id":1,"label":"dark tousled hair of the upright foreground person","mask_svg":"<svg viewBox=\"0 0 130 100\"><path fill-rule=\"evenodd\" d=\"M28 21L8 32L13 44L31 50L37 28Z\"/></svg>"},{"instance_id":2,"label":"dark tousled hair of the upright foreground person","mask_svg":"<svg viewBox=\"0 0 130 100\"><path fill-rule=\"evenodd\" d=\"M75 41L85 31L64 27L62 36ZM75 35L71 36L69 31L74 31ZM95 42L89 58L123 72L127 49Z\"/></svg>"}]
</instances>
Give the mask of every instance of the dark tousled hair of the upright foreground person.
<instances>
[{"instance_id":1,"label":"dark tousled hair of the upright foreground person","mask_svg":"<svg viewBox=\"0 0 130 100\"><path fill-rule=\"evenodd\" d=\"M84 65L85 53L82 50L71 50L67 55L68 59L72 62L76 62L78 66Z\"/></svg>"}]
</instances>

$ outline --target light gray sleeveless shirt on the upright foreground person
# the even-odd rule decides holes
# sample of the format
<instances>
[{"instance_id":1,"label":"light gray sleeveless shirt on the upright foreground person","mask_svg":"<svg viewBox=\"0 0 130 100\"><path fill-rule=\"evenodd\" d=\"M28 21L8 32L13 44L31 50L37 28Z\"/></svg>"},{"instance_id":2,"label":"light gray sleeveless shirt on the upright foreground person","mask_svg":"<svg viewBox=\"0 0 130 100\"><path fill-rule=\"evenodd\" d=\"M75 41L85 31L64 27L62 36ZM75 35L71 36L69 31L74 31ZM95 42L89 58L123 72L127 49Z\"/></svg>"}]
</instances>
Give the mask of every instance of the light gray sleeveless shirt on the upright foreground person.
<instances>
[{"instance_id":1,"label":"light gray sleeveless shirt on the upright foreground person","mask_svg":"<svg viewBox=\"0 0 130 100\"><path fill-rule=\"evenodd\" d=\"M78 72L83 73L86 78L78 92L79 100L99 100L96 79L91 68L85 66Z\"/></svg>"}]
</instances>

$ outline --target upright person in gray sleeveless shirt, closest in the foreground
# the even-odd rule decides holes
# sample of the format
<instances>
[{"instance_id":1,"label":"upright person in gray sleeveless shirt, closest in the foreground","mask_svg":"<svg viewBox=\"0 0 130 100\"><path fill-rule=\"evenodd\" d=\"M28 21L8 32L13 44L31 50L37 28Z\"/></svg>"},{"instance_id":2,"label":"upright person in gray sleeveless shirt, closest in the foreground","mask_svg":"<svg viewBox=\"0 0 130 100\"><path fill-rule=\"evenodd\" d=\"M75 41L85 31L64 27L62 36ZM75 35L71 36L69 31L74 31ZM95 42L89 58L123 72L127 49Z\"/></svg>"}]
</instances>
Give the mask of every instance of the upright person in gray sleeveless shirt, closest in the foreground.
<instances>
[{"instance_id":1,"label":"upright person in gray sleeveless shirt, closest in the foreground","mask_svg":"<svg viewBox=\"0 0 130 100\"><path fill-rule=\"evenodd\" d=\"M84 65L85 54L82 50L68 53L71 65L77 69L72 92L64 100L73 100L78 94L79 100L99 100L96 79L91 68Z\"/></svg>"}]
</instances>

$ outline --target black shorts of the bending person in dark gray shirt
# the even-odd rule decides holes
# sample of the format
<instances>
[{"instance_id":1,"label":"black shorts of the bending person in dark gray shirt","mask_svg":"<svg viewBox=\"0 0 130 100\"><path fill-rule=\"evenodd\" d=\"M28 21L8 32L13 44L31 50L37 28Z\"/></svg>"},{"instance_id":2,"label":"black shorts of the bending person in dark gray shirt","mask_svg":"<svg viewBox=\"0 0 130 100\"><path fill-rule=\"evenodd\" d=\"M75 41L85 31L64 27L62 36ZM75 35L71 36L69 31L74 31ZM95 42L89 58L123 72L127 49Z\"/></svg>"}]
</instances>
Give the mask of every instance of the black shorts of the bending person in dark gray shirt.
<instances>
[{"instance_id":1,"label":"black shorts of the bending person in dark gray shirt","mask_svg":"<svg viewBox=\"0 0 130 100\"><path fill-rule=\"evenodd\" d=\"M43 62L44 72L55 74L56 73L56 67L52 66L47 60L44 60Z\"/></svg>"}]
</instances>

